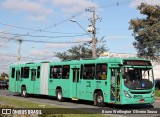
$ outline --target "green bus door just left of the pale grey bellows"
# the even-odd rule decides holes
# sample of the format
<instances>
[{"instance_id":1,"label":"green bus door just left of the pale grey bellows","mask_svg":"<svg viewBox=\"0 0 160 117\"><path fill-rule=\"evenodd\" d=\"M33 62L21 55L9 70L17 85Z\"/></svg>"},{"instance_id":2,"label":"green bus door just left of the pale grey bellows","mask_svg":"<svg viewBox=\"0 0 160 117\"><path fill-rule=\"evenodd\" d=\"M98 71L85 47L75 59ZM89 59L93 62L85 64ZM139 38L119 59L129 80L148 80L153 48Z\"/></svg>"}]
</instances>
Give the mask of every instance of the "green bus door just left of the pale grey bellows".
<instances>
[{"instance_id":1,"label":"green bus door just left of the pale grey bellows","mask_svg":"<svg viewBox=\"0 0 160 117\"><path fill-rule=\"evenodd\" d=\"M36 84L36 69L31 69L31 83L30 83L30 93L35 93L35 84Z\"/></svg>"}]
</instances>

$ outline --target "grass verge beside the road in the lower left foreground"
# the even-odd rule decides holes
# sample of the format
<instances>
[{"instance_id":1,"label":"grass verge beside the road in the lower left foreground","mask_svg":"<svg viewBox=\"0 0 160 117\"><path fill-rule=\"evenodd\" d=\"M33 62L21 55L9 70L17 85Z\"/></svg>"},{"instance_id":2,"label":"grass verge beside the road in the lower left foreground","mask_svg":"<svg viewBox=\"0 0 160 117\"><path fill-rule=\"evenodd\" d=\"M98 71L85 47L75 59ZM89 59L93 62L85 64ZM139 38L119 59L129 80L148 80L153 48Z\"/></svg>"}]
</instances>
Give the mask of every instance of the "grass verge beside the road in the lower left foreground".
<instances>
[{"instance_id":1,"label":"grass verge beside the road in the lower left foreground","mask_svg":"<svg viewBox=\"0 0 160 117\"><path fill-rule=\"evenodd\" d=\"M50 105L45 105L45 106L40 106L42 105L41 103L35 103L35 102L31 102L31 101L25 101L25 100L18 100L18 99L13 99L13 98L9 98L9 97L5 97L5 96L1 96L0 97L0 102L3 105L0 105L0 108L4 108L4 107L8 107L8 108L48 108L45 109L47 112L47 110L49 111L49 108L60 108L57 106L50 106ZM62 107L61 107L62 108ZM81 110L75 110L75 109L67 109L67 108L62 108L62 109L57 109L54 110L54 113L60 113L60 114L42 114L42 115L38 115L38 117L111 117L111 116L106 116L106 115L102 115L102 114L93 114L93 113L86 113L85 111L81 111ZM58 111L58 112L56 112ZM61 113L73 113L73 114L61 114ZM78 113L78 114L77 114ZM84 114L86 113L86 114ZM27 115L24 117L28 117Z\"/></svg>"}]
</instances>

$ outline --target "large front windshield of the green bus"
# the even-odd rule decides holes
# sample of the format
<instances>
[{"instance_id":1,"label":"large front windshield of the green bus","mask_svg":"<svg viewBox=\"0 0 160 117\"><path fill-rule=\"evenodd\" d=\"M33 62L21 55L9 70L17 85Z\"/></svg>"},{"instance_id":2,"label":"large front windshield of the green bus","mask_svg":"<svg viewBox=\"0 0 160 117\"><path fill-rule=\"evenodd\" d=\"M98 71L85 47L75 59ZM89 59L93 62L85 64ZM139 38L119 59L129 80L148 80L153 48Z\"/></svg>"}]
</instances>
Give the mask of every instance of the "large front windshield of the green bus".
<instances>
[{"instance_id":1,"label":"large front windshield of the green bus","mask_svg":"<svg viewBox=\"0 0 160 117\"><path fill-rule=\"evenodd\" d=\"M129 89L151 89L153 88L153 75L151 68L122 68L124 84Z\"/></svg>"}]
</instances>

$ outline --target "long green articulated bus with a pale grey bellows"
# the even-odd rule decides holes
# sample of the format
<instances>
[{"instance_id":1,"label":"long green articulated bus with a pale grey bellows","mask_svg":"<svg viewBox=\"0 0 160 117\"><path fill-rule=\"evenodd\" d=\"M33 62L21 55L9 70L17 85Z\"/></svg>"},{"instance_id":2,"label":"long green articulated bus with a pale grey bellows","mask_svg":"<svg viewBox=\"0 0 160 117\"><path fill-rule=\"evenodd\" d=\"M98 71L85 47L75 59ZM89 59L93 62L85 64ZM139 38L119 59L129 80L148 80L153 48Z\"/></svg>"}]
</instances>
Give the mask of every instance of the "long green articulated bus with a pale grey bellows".
<instances>
[{"instance_id":1,"label":"long green articulated bus with a pale grey bellows","mask_svg":"<svg viewBox=\"0 0 160 117\"><path fill-rule=\"evenodd\" d=\"M56 96L58 101L90 100L94 105L154 103L150 60L98 58L12 65L9 90Z\"/></svg>"}]
</instances>

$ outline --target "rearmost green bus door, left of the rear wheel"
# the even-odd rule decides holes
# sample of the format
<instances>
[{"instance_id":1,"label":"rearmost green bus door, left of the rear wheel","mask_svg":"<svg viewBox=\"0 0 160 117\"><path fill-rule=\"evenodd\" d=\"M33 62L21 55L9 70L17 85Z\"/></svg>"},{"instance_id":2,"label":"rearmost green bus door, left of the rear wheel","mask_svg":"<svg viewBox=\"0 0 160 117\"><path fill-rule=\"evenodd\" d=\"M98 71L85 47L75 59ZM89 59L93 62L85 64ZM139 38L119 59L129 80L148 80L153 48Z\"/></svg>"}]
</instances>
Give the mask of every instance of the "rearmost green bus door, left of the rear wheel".
<instances>
[{"instance_id":1,"label":"rearmost green bus door, left of the rear wheel","mask_svg":"<svg viewBox=\"0 0 160 117\"><path fill-rule=\"evenodd\" d=\"M21 90L20 88L20 80L21 80L21 75L20 75L20 70L16 70L16 82L15 82L15 91L19 92Z\"/></svg>"}]
</instances>

